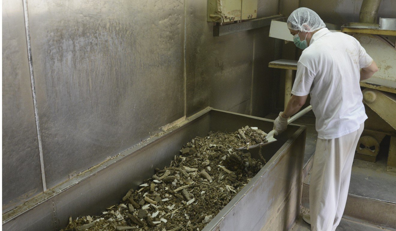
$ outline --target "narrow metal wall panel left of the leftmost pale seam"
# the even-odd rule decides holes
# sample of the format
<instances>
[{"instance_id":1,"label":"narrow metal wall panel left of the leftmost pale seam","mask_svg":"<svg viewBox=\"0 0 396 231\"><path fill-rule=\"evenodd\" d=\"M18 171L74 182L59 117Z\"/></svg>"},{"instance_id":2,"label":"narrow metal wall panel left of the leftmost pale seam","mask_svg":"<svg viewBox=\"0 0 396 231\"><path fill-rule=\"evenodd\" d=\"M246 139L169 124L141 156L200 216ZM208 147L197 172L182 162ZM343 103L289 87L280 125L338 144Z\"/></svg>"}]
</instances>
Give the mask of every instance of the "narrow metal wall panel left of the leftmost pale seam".
<instances>
[{"instance_id":1,"label":"narrow metal wall panel left of the leftmost pale seam","mask_svg":"<svg viewBox=\"0 0 396 231\"><path fill-rule=\"evenodd\" d=\"M3 212L42 192L22 1L3 11Z\"/></svg>"}]
</instances>

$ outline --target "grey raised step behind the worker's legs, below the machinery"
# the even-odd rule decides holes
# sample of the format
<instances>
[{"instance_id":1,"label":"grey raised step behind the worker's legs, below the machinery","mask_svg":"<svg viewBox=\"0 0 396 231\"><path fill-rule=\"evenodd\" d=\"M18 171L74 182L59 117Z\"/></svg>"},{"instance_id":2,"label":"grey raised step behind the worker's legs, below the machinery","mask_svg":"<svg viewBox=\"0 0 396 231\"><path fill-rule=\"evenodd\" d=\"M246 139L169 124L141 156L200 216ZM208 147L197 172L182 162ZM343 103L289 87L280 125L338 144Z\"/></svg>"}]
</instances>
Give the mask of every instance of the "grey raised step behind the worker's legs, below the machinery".
<instances>
[{"instance_id":1,"label":"grey raised step behind the worker's legs, below the machinery","mask_svg":"<svg viewBox=\"0 0 396 231\"><path fill-rule=\"evenodd\" d=\"M309 208L310 174L303 183L301 205ZM386 162L354 160L345 217L396 228L396 174L386 172Z\"/></svg>"}]
</instances>

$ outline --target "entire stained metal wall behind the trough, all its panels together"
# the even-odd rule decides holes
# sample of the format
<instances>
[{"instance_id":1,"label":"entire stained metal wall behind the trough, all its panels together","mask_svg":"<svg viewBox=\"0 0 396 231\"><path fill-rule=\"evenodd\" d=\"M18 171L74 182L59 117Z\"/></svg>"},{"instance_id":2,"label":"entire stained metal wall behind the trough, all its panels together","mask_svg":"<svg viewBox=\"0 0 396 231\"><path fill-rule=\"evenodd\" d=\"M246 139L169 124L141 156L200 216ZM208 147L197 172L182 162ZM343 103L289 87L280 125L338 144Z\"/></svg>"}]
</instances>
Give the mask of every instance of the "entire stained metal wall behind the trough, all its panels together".
<instances>
[{"instance_id":1,"label":"entire stained metal wall behind the trough, all its panels together","mask_svg":"<svg viewBox=\"0 0 396 231\"><path fill-rule=\"evenodd\" d=\"M268 28L213 37L206 0L23 2L3 1L3 212L43 190L24 16L48 189L207 106L270 110Z\"/></svg>"}]
</instances>

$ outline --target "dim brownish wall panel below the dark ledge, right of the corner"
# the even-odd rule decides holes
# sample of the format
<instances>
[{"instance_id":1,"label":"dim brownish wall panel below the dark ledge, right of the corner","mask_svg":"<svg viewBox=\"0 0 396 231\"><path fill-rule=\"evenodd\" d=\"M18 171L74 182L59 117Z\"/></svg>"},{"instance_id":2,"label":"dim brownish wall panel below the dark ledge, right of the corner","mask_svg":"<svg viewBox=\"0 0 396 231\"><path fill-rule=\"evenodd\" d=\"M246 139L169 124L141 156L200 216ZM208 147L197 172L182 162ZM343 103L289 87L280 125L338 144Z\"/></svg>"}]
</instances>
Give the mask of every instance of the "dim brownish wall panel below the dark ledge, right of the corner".
<instances>
[{"instance_id":1,"label":"dim brownish wall panel below the dark ledge, right of the corner","mask_svg":"<svg viewBox=\"0 0 396 231\"><path fill-rule=\"evenodd\" d=\"M239 32L212 38L216 47L206 65L209 78L210 106L216 109L250 114L251 79L253 68L253 34Z\"/></svg>"}]
</instances>

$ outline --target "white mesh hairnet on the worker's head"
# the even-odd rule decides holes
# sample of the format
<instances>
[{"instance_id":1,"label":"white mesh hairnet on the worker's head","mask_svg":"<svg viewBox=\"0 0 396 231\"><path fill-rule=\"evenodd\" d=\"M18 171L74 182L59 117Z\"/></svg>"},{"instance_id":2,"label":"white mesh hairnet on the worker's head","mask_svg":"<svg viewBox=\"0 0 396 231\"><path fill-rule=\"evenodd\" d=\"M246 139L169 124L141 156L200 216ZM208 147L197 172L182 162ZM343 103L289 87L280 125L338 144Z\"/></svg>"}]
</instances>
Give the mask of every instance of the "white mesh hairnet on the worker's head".
<instances>
[{"instance_id":1,"label":"white mesh hairnet on the worker's head","mask_svg":"<svg viewBox=\"0 0 396 231\"><path fill-rule=\"evenodd\" d=\"M315 11L301 7L291 13L287 19L287 27L295 31L313 32L325 28L326 25Z\"/></svg>"}]
</instances>

